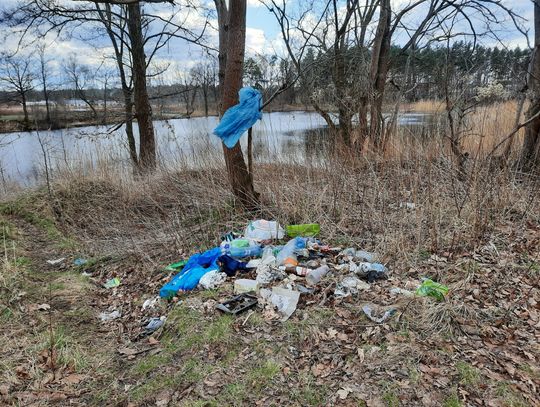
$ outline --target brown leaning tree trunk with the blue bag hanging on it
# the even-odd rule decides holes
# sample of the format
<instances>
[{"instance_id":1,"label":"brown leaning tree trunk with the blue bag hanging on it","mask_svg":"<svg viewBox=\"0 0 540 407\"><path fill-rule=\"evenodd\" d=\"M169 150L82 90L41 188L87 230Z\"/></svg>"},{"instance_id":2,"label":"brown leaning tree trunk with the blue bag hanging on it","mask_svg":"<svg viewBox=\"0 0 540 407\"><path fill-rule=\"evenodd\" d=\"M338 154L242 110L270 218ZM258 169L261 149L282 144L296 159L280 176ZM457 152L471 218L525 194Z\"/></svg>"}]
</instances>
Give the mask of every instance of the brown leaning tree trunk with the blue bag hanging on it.
<instances>
[{"instance_id":1,"label":"brown leaning tree trunk with the blue bag hanging on it","mask_svg":"<svg viewBox=\"0 0 540 407\"><path fill-rule=\"evenodd\" d=\"M225 1L216 0L218 25L220 27L221 115L229 107L238 103L238 91L242 87L246 45L246 0L230 0L229 4L230 10L227 11ZM226 41L223 41L224 37ZM234 196L247 209L256 208L259 202L259 194L255 192L253 187L253 176L247 169L240 142L236 143L233 148L227 148L223 144L223 155Z\"/></svg>"}]
</instances>

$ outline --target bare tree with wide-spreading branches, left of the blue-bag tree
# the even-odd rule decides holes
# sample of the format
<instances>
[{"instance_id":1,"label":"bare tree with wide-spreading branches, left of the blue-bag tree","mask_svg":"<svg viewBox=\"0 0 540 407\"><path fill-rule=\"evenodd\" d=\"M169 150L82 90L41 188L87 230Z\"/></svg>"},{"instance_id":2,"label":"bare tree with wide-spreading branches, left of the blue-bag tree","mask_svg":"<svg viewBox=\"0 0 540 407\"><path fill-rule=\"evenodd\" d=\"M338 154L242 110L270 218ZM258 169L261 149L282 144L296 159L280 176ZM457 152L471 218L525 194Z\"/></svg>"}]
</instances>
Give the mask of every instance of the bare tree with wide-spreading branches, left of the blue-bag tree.
<instances>
[{"instance_id":1,"label":"bare tree with wide-spreading branches, left of the blue-bag tree","mask_svg":"<svg viewBox=\"0 0 540 407\"><path fill-rule=\"evenodd\" d=\"M181 38L199 43L207 24L201 32L194 33L183 27L190 18L181 16L181 8L162 12L143 9L138 0L20 0L6 10L0 22L20 33L22 38L30 31L38 36L48 32L70 31L92 39L93 34L79 27L105 29L114 50L124 94L126 135L130 156L135 166L143 171L156 166L156 143L152 124L152 109L146 85L147 67L159 50L171 38ZM173 3L167 0L146 0L144 3ZM191 7L186 5L186 9ZM179 23L179 18L183 18ZM135 112L133 113L133 110ZM132 120L139 124L139 155L137 155Z\"/></svg>"}]
</instances>

